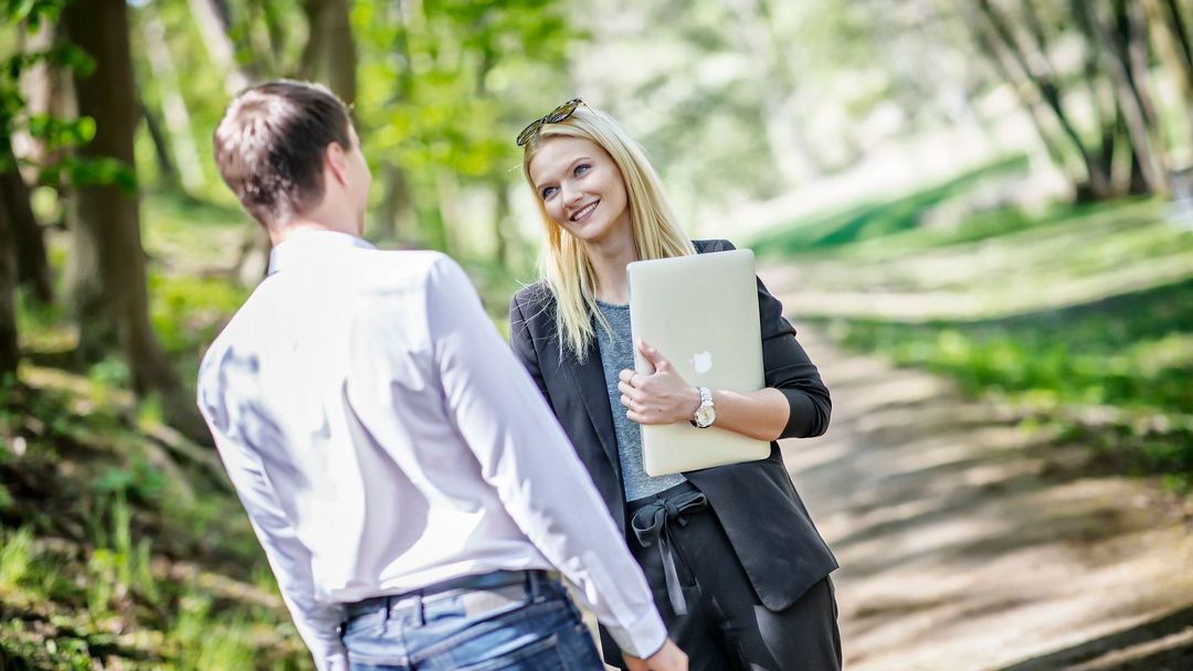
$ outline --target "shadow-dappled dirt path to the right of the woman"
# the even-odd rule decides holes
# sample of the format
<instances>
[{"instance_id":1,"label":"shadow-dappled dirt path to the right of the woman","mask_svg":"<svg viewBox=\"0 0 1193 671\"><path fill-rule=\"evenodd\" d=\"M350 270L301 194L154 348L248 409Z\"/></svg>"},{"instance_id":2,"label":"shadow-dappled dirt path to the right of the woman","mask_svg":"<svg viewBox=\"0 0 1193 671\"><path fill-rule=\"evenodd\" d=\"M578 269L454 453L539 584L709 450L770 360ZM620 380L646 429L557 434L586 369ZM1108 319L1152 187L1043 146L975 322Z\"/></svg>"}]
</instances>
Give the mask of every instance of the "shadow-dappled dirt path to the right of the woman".
<instances>
[{"instance_id":1,"label":"shadow-dappled dirt path to the right of the woman","mask_svg":"<svg viewBox=\"0 0 1193 671\"><path fill-rule=\"evenodd\" d=\"M842 566L851 671L1193 670L1193 511L945 380L801 341L833 425L784 448Z\"/></svg>"}]
</instances>

